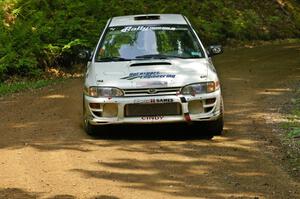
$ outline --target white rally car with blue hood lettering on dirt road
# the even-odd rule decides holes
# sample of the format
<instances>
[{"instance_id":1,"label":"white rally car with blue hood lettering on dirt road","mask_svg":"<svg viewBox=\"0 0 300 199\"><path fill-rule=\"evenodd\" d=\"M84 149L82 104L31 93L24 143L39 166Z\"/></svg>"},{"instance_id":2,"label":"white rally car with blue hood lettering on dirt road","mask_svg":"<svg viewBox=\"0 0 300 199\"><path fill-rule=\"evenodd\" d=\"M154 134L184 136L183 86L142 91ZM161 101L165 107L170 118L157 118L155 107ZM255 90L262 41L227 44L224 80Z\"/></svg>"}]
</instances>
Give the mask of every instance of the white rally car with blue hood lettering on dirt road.
<instances>
[{"instance_id":1,"label":"white rally car with blue hood lettering on dirt road","mask_svg":"<svg viewBox=\"0 0 300 199\"><path fill-rule=\"evenodd\" d=\"M223 132L220 82L188 19L153 14L110 19L89 56L83 121L88 134L115 124L189 123ZM97 127L97 128L96 128Z\"/></svg>"}]
</instances>

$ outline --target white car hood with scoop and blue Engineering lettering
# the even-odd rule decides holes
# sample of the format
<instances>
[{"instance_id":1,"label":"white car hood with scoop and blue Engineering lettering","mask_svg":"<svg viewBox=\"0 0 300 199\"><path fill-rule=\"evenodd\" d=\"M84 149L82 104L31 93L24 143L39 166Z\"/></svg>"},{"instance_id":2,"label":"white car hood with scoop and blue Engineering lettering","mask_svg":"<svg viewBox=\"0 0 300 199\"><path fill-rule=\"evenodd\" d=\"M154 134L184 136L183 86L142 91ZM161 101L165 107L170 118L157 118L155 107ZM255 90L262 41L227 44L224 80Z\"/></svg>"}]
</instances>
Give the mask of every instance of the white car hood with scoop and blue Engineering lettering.
<instances>
[{"instance_id":1,"label":"white car hood with scoop and blue Engineering lettering","mask_svg":"<svg viewBox=\"0 0 300 199\"><path fill-rule=\"evenodd\" d=\"M181 87L207 81L206 59L143 60L94 63L98 86L130 88Z\"/></svg>"}]
</instances>

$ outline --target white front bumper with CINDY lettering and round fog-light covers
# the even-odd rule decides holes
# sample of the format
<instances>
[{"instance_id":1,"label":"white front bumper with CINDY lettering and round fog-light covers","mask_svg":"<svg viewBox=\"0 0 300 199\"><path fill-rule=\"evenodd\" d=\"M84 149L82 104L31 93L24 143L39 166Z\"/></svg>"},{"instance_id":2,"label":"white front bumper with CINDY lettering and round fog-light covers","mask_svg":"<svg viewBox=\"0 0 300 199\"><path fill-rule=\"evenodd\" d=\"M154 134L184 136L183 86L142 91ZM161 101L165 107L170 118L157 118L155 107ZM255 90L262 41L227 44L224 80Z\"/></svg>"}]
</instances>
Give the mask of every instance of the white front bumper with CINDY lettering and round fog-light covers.
<instances>
[{"instance_id":1,"label":"white front bumper with CINDY lettering and round fog-light covers","mask_svg":"<svg viewBox=\"0 0 300 199\"><path fill-rule=\"evenodd\" d=\"M149 107L149 104L163 105L166 103L176 103L180 111L170 115L164 114L162 110L160 114L151 115L149 111L147 113L145 110L146 112L141 115L128 116L127 105L139 104ZM83 96L84 120L92 125L213 121L222 115L221 103L220 90L196 96L166 95L115 98Z\"/></svg>"}]
</instances>

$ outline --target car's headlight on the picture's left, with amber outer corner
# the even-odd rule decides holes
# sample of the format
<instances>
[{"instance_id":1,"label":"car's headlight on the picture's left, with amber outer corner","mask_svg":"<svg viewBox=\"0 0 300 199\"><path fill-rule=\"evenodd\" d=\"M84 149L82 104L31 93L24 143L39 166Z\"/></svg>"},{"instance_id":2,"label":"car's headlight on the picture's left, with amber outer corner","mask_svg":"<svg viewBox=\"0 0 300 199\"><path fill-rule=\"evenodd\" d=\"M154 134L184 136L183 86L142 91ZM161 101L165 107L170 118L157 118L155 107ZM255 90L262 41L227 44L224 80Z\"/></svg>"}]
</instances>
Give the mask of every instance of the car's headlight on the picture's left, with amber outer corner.
<instances>
[{"instance_id":1,"label":"car's headlight on the picture's left, with amber outer corner","mask_svg":"<svg viewBox=\"0 0 300 199\"><path fill-rule=\"evenodd\" d=\"M86 94L91 97L120 97L124 95L121 89L97 86L89 87Z\"/></svg>"}]
</instances>

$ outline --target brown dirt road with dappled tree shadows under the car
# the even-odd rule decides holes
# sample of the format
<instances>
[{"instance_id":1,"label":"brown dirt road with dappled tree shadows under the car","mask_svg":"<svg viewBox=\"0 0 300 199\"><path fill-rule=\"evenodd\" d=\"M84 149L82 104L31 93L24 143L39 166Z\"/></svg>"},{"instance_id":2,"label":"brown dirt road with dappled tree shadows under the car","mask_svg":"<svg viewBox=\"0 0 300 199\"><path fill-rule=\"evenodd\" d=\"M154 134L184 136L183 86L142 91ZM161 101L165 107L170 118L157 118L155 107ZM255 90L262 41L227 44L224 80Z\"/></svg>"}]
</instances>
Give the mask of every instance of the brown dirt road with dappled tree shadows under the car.
<instances>
[{"instance_id":1,"label":"brown dirt road with dappled tree shadows under the car","mask_svg":"<svg viewBox=\"0 0 300 199\"><path fill-rule=\"evenodd\" d=\"M213 140L177 127L91 138L81 79L1 98L0 198L300 198L268 124L300 79L299 55L290 44L217 57L226 133Z\"/></svg>"}]
</instances>

